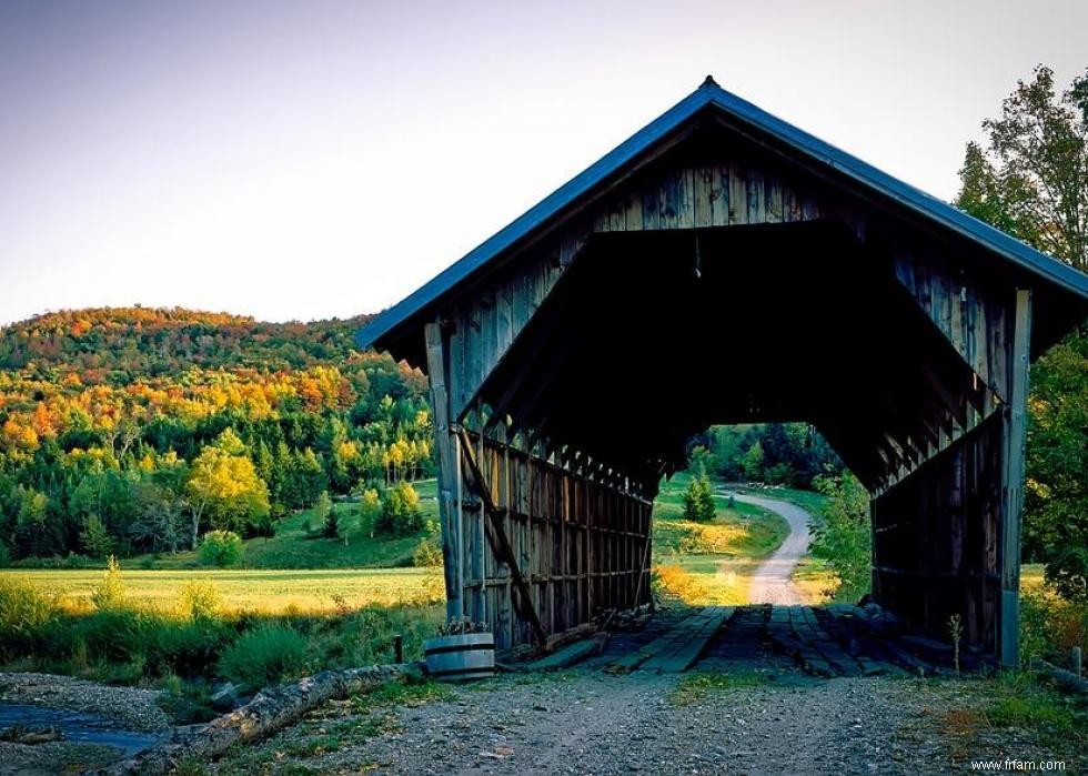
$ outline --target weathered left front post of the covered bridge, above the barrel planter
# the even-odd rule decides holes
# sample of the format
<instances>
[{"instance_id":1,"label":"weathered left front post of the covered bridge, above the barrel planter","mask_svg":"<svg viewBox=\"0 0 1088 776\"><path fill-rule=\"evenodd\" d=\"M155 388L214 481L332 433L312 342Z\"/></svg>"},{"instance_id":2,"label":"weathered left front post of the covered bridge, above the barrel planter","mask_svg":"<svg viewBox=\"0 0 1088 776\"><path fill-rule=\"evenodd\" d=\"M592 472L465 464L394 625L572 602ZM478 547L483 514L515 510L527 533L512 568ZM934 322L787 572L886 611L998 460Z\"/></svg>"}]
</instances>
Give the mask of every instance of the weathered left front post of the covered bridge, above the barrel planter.
<instances>
[{"instance_id":1,"label":"weathered left front post of the covered bridge, above the barrel planter","mask_svg":"<svg viewBox=\"0 0 1088 776\"><path fill-rule=\"evenodd\" d=\"M431 380L431 410L434 413L435 452L439 458L439 520L442 525L442 562L445 572L446 618L460 619L463 570L461 567L461 466L457 440L450 427L450 396L446 391L447 359L437 322L424 329L427 376Z\"/></svg>"}]
</instances>

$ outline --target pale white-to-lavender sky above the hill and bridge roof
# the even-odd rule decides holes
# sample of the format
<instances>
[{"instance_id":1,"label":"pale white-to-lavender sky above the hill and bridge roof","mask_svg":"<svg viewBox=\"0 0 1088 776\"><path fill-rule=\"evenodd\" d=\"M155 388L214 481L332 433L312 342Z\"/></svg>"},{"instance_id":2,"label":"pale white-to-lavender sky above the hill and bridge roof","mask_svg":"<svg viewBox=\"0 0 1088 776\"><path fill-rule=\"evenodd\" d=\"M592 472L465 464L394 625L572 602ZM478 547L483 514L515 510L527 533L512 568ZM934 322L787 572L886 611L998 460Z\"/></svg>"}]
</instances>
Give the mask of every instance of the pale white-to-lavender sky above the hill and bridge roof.
<instances>
[{"instance_id":1,"label":"pale white-to-lavender sky above the hill and bridge roof","mask_svg":"<svg viewBox=\"0 0 1088 776\"><path fill-rule=\"evenodd\" d=\"M376 312L695 89L937 196L1085 0L0 0L0 324Z\"/></svg>"}]
</instances>

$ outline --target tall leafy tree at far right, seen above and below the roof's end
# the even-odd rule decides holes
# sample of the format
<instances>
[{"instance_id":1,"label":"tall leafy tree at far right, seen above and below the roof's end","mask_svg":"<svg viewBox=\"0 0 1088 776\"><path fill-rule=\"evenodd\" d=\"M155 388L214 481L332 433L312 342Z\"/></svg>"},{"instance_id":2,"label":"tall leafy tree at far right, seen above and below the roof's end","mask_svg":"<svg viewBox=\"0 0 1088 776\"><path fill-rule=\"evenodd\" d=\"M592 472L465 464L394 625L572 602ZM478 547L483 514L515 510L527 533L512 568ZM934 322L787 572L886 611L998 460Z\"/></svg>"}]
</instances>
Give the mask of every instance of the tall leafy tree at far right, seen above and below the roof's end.
<instances>
[{"instance_id":1,"label":"tall leafy tree at far right, seen above and below the roof's end","mask_svg":"<svg viewBox=\"0 0 1088 776\"><path fill-rule=\"evenodd\" d=\"M1088 71L1060 95L1038 67L969 143L956 204L1088 272ZM1088 322L1031 369L1024 552L1088 599Z\"/></svg>"}]
</instances>

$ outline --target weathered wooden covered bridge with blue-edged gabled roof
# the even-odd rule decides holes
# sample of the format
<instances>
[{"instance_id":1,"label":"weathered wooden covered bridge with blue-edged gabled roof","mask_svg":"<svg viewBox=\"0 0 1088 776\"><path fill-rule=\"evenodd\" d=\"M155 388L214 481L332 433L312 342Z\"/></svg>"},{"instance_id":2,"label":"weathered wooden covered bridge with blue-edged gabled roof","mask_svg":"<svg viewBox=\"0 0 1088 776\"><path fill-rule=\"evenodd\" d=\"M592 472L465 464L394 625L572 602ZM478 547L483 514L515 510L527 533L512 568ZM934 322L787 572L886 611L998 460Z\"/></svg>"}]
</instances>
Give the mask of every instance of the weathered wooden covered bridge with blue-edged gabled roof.
<instances>
[{"instance_id":1,"label":"weathered wooden covered bridge with blue-edged gabled roof","mask_svg":"<svg viewBox=\"0 0 1088 776\"><path fill-rule=\"evenodd\" d=\"M447 612L500 646L648 598L693 434L805 421L873 496L875 599L1011 664L1028 364L1086 314L1085 275L708 78L360 341L430 375Z\"/></svg>"}]
</instances>

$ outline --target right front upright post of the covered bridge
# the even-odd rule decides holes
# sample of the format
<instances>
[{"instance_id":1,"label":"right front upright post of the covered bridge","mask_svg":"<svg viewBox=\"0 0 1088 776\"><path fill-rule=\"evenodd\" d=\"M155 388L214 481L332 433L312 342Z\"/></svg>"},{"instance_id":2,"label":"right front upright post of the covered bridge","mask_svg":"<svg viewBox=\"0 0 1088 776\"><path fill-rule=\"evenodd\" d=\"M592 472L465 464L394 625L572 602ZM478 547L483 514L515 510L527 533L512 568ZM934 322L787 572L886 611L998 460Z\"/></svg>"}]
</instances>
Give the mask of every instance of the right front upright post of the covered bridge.
<instances>
[{"instance_id":1,"label":"right front upright post of the covered bridge","mask_svg":"<svg viewBox=\"0 0 1088 776\"><path fill-rule=\"evenodd\" d=\"M1024 445L1027 440L1028 369L1031 361L1031 291L1017 289L1013 319L1010 391L1001 430L1001 607L997 621L1001 665L1019 664L1020 523L1024 511Z\"/></svg>"}]
</instances>

